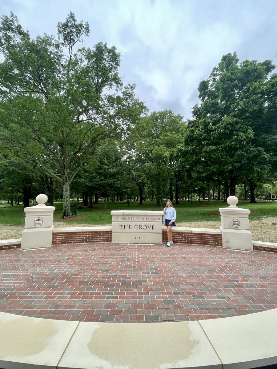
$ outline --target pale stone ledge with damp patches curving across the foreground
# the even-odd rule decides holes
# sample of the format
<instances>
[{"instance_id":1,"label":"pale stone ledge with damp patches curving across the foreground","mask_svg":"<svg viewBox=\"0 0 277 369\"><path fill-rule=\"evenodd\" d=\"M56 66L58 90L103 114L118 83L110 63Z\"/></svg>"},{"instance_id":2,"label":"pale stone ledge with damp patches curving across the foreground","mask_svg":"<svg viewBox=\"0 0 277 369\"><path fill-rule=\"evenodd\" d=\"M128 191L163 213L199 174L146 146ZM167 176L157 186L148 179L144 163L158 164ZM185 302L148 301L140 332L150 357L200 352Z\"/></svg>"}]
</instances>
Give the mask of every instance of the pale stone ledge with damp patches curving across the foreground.
<instances>
[{"instance_id":1,"label":"pale stone ledge with damp patches curving across the foreground","mask_svg":"<svg viewBox=\"0 0 277 369\"><path fill-rule=\"evenodd\" d=\"M3 369L249 369L277 363L277 309L174 323L93 323L0 312Z\"/></svg>"}]
</instances>

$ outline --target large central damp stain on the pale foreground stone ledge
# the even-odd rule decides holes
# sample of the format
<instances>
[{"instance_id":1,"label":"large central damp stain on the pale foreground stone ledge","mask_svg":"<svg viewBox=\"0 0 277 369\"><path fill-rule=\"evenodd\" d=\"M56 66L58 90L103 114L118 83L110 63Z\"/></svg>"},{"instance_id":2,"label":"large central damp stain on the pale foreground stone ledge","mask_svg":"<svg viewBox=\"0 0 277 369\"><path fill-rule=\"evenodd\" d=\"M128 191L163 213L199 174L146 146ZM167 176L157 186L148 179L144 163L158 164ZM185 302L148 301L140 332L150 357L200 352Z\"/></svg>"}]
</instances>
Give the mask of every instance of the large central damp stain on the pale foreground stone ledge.
<instances>
[{"instance_id":1,"label":"large central damp stain on the pale foreground stone ledge","mask_svg":"<svg viewBox=\"0 0 277 369\"><path fill-rule=\"evenodd\" d=\"M93 332L88 348L93 355L107 362L107 368L175 368L179 366L178 362L191 356L199 343L191 337L186 322L171 324L170 329L164 323L154 323L149 328L145 324L128 326L107 323Z\"/></svg>"}]
</instances>

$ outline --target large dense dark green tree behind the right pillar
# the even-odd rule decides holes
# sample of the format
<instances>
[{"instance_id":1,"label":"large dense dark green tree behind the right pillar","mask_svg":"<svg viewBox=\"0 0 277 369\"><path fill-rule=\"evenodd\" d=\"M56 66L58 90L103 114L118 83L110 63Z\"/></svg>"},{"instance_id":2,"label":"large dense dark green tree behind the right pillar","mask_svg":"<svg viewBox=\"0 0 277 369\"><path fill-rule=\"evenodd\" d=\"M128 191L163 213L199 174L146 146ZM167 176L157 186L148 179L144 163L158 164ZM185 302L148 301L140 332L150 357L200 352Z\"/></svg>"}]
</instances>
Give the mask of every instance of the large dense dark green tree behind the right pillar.
<instances>
[{"instance_id":1,"label":"large dense dark green tree behind the right pillar","mask_svg":"<svg viewBox=\"0 0 277 369\"><path fill-rule=\"evenodd\" d=\"M275 77L269 80L275 66L268 60L238 62L236 53L222 56L199 84L201 105L194 106L194 120L188 122L184 158L195 178L222 184L226 197L246 179L254 202L256 185L269 178L270 161L275 160L270 157L276 155L266 144L271 138L276 142L276 119L269 108L276 103L276 92L270 88L276 86Z\"/></svg>"}]
</instances>

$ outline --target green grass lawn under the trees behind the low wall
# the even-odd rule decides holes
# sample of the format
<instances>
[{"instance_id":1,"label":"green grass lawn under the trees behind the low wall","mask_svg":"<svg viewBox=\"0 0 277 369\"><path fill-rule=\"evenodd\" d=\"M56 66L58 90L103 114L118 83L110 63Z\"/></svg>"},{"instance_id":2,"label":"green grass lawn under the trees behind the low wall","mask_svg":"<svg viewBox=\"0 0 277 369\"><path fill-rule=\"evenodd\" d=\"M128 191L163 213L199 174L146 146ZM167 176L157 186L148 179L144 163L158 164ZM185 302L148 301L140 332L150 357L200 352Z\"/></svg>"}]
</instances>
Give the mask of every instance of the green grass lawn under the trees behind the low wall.
<instances>
[{"instance_id":1,"label":"green grass lawn under the trees behind the low wall","mask_svg":"<svg viewBox=\"0 0 277 369\"><path fill-rule=\"evenodd\" d=\"M220 221L218 208L227 207L228 203L224 201L211 201L211 206L207 206L207 200L199 201L179 201L179 205L173 205L177 211L176 224L183 222L201 222L201 221ZM71 204L78 205L77 202ZM174 202L173 202L174 204ZM61 217L62 203L54 203L56 207L54 218ZM165 201L163 202L163 207ZM263 217L276 217L277 202L274 201L258 201L256 204L250 204L249 201L240 200L238 207L251 210L249 220L260 220ZM74 208L72 207L71 210ZM137 201L130 201L129 207L126 202L107 202L104 209L104 201L93 204L91 209L78 209L78 216L84 216L79 220L74 220L76 224L101 225L111 224L112 210L160 210L155 206L155 201L144 201L143 205L138 205ZM75 218L75 217L74 217ZM22 205L10 206L3 202L0 205L0 223L9 225L24 225L25 213ZM63 223L71 223L71 221L63 221Z\"/></svg>"}]
</instances>

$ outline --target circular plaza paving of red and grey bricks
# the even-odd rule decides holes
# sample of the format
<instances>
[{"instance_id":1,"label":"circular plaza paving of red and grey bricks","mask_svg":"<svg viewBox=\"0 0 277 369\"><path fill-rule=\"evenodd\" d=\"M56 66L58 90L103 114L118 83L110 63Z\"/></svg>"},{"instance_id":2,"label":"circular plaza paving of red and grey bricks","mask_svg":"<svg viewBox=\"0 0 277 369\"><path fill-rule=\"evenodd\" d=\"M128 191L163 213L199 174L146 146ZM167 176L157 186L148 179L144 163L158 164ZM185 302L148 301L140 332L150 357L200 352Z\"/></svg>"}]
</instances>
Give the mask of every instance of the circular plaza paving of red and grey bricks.
<instances>
[{"instance_id":1,"label":"circular plaza paving of red and grey bricks","mask_svg":"<svg viewBox=\"0 0 277 369\"><path fill-rule=\"evenodd\" d=\"M75 244L0 254L0 311L75 321L223 318L277 307L277 255Z\"/></svg>"}]
</instances>

